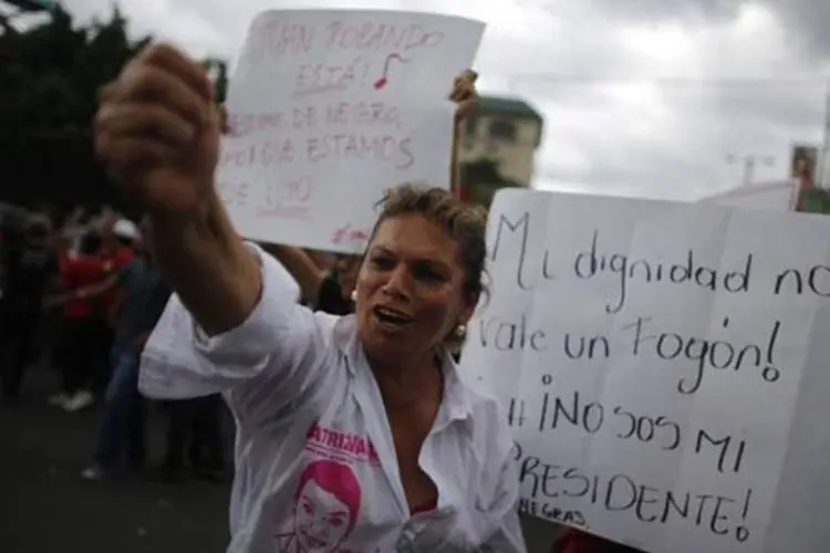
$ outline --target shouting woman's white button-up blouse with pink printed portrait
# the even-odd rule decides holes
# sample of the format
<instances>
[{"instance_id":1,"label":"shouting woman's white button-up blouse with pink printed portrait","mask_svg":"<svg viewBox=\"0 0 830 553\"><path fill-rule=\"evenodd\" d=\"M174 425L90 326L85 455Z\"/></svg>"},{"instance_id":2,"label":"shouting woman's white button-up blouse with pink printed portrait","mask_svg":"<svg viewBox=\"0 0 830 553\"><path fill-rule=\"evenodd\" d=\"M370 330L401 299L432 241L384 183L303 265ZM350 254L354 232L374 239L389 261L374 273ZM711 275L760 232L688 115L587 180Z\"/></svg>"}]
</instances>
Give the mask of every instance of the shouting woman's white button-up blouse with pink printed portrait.
<instances>
[{"instance_id":1,"label":"shouting woman's white button-up blouse with pink printed portrait","mask_svg":"<svg viewBox=\"0 0 830 553\"><path fill-rule=\"evenodd\" d=\"M262 298L222 335L170 299L142 357L159 399L222 393L237 422L229 552L525 552L512 439L497 403L447 357L445 395L418 459L437 507L411 514L381 394L354 316L297 303L256 247Z\"/></svg>"}]
</instances>

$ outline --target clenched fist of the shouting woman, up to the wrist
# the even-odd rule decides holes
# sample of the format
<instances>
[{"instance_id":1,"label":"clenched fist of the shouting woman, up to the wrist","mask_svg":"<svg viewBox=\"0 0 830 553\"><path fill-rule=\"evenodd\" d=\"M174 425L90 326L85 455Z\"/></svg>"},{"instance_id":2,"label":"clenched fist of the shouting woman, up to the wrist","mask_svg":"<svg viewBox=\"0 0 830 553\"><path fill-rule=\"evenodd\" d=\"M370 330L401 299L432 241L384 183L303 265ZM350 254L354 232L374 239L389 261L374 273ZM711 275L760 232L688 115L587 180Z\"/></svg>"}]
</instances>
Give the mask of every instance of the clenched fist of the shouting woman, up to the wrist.
<instances>
[{"instance_id":1,"label":"clenched fist of the shouting woman, up to the wrist","mask_svg":"<svg viewBox=\"0 0 830 553\"><path fill-rule=\"evenodd\" d=\"M144 49L108 84L95 152L151 213L196 213L212 198L220 121L205 70L178 50Z\"/></svg>"}]
</instances>

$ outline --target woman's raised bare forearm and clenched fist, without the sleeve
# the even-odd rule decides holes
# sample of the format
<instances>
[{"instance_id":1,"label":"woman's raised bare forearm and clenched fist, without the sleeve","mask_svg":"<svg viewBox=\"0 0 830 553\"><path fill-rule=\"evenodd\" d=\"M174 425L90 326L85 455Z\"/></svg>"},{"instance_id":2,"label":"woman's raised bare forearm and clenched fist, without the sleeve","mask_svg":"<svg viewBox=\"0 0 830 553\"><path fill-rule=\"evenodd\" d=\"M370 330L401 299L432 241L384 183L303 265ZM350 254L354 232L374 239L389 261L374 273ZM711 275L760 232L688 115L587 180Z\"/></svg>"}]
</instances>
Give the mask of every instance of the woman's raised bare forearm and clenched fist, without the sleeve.
<instances>
[{"instance_id":1,"label":"woman's raised bare forearm and clenched fist, without the sleeve","mask_svg":"<svg viewBox=\"0 0 830 553\"><path fill-rule=\"evenodd\" d=\"M165 44L127 63L104 88L95 119L98 157L143 204L162 271L210 335L245 322L262 288L258 260L214 186L220 126L204 67Z\"/></svg>"}]
</instances>

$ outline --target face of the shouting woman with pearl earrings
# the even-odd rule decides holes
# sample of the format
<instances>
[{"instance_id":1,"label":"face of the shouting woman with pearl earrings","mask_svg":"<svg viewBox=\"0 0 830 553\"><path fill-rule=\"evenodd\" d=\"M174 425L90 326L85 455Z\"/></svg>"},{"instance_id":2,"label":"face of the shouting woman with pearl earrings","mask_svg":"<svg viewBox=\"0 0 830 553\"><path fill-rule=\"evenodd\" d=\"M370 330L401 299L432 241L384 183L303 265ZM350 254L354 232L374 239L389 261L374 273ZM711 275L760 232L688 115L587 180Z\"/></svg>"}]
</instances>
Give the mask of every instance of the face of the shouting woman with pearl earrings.
<instances>
[{"instance_id":1,"label":"face of the shouting woman with pearl earrings","mask_svg":"<svg viewBox=\"0 0 830 553\"><path fill-rule=\"evenodd\" d=\"M458 244L443 229L418 215L381 222L357 279L366 353L394 361L434 351L471 315L463 284Z\"/></svg>"}]
</instances>

